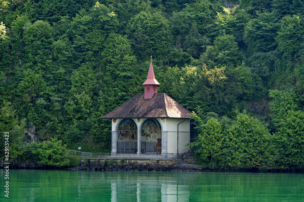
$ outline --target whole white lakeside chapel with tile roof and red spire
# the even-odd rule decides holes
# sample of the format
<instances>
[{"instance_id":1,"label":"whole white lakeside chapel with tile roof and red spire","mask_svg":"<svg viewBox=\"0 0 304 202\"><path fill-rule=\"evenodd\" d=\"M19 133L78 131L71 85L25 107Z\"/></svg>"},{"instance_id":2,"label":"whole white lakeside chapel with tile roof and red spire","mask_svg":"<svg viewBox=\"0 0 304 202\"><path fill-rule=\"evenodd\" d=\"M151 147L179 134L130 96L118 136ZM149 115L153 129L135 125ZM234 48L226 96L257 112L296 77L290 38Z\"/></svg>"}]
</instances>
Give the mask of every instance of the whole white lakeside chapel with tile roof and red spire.
<instances>
[{"instance_id":1,"label":"whole white lakeside chapel with tile roof and red spire","mask_svg":"<svg viewBox=\"0 0 304 202\"><path fill-rule=\"evenodd\" d=\"M112 155L159 154L174 157L189 150L190 114L165 93L154 76L152 57L144 94L136 94L102 116L112 119Z\"/></svg>"}]
</instances>

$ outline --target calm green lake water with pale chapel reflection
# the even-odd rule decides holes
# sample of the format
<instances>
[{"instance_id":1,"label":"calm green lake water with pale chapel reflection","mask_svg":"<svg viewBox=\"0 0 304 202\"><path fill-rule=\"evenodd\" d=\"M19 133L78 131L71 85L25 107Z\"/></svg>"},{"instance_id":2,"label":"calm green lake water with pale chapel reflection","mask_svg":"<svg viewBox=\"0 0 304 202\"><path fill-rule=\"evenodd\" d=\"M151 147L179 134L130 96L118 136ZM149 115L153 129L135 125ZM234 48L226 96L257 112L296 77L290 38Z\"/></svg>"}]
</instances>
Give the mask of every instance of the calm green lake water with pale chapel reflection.
<instances>
[{"instance_id":1,"label":"calm green lake water with pale chapel reflection","mask_svg":"<svg viewBox=\"0 0 304 202\"><path fill-rule=\"evenodd\" d=\"M10 170L0 201L304 201L303 174Z\"/></svg>"}]
</instances>

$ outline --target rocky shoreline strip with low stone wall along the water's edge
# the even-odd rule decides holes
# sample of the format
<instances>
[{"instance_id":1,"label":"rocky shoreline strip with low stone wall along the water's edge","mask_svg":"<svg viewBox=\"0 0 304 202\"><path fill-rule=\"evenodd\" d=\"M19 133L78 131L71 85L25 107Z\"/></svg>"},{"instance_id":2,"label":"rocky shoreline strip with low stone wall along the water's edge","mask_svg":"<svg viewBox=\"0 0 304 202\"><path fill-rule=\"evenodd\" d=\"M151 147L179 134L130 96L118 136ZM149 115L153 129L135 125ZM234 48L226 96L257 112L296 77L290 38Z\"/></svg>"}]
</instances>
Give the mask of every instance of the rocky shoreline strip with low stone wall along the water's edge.
<instances>
[{"instance_id":1,"label":"rocky shoreline strip with low stone wall along the water's edge","mask_svg":"<svg viewBox=\"0 0 304 202\"><path fill-rule=\"evenodd\" d=\"M108 158L91 158L80 159L77 167L55 167L40 164L38 160L28 160L20 162L17 159L11 162L12 170L71 170L71 171L169 171L169 172L250 172L250 173L303 173L303 170L258 170L221 168L215 169L208 166L199 166L194 164L195 161L190 152L182 154L180 157L172 159L108 159ZM4 159L0 160L0 167L4 167Z\"/></svg>"}]
</instances>

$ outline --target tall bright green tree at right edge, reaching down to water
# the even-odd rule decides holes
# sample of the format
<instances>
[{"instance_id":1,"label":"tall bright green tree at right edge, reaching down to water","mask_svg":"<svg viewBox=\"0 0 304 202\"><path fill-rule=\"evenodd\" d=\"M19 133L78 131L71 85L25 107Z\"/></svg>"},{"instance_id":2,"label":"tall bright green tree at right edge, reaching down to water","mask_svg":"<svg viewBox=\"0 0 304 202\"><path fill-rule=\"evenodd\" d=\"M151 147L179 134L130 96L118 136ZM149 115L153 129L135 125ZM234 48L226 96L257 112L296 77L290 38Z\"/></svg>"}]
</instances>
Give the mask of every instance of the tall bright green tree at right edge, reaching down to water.
<instances>
[{"instance_id":1,"label":"tall bright green tree at right edge, reaching down to water","mask_svg":"<svg viewBox=\"0 0 304 202\"><path fill-rule=\"evenodd\" d=\"M270 109L277 129L274 137L279 146L279 165L282 169L303 169L304 112L297 111L296 94L292 89L271 90L269 96L273 98Z\"/></svg>"}]
</instances>

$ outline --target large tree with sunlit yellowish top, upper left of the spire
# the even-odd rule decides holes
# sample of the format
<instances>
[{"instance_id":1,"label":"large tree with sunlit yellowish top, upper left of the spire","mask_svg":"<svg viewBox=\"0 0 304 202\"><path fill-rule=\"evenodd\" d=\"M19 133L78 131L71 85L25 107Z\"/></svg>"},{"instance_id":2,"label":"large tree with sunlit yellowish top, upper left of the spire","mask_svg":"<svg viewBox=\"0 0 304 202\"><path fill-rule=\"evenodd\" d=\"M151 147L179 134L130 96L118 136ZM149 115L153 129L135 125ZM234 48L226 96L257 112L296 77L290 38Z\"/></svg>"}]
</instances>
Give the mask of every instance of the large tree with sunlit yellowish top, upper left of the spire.
<instances>
[{"instance_id":1,"label":"large tree with sunlit yellowish top, upper left of the spire","mask_svg":"<svg viewBox=\"0 0 304 202\"><path fill-rule=\"evenodd\" d=\"M76 51L81 54L79 61L92 61L99 51L102 51L103 43L110 33L116 32L118 27L117 14L107 6L96 2L89 10L81 10L73 18L67 35L72 38Z\"/></svg>"}]
</instances>

